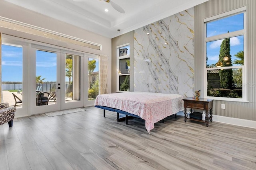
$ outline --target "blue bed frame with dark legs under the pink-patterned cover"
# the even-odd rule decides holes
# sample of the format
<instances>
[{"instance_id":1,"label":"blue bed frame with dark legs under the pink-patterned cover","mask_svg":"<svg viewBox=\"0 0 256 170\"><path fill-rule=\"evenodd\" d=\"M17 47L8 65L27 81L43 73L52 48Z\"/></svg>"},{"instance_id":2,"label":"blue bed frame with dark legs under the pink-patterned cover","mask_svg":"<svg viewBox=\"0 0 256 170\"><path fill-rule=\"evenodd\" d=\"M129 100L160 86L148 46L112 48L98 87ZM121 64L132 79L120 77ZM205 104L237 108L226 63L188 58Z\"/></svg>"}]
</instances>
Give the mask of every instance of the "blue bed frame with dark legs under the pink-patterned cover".
<instances>
[{"instance_id":1,"label":"blue bed frame with dark legs under the pink-patterned cover","mask_svg":"<svg viewBox=\"0 0 256 170\"><path fill-rule=\"evenodd\" d=\"M140 118L140 116L138 115L134 115L132 113L128 113L126 111L123 111L123 110L120 110L120 109L115 109L115 108L112 108L112 107L106 107L106 106L94 106L94 107L98 107L100 109L103 109L103 117L106 117L106 110L109 110L109 111L114 111L117 113L117 121L120 121L120 117L119 117L119 113L121 114L124 114L125 115L125 124L128 125L128 116L132 116L132 117L137 117L137 118ZM177 114L174 114L175 117L177 117ZM164 123L164 119L162 119L162 123Z\"/></svg>"}]
</instances>

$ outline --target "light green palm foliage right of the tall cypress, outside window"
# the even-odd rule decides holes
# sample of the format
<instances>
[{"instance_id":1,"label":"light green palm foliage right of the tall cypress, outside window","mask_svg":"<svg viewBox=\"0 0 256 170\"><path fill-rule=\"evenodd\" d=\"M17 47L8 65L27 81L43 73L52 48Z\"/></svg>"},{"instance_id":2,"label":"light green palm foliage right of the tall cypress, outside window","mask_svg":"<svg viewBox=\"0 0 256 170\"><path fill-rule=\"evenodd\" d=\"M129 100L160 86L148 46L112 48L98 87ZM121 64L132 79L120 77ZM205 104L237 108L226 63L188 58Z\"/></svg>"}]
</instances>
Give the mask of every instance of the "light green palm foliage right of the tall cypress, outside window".
<instances>
[{"instance_id":1,"label":"light green palm foliage right of the tall cypress, outside window","mask_svg":"<svg viewBox=\"0 0 256 170\"><path fill-rule=\"evenodd\" d=\"M234 60L234 64L244 65L244 51L238 51L234 56L236 56L238 59ZM236 72L233 74L234 82L235 84L239 86L243 83L243 72L242 68L239 68Z\"/></svg>"}]
</instances>

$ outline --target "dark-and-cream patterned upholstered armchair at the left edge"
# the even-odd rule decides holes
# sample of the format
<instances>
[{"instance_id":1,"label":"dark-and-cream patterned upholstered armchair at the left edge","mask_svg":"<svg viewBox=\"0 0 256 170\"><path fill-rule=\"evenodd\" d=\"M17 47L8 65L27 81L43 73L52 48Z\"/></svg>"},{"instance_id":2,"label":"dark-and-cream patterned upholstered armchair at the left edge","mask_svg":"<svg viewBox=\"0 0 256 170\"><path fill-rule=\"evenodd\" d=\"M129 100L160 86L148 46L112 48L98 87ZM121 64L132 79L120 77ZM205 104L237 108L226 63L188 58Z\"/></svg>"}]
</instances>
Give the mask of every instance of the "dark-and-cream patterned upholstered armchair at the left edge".
<instances>
[{"instance_id":1,"label":"dark-and-cream patterned upholstered armchair at the left edge","mask_svg":"<svg viewBox=\"0 0 256 170\"><path fill-rule=\"evenodd\" d=\"M16 107L9 107L9 103L0 103L0 108L0 125L8 122L9 127L12 127Z\"/></svg>"}]
</instances>

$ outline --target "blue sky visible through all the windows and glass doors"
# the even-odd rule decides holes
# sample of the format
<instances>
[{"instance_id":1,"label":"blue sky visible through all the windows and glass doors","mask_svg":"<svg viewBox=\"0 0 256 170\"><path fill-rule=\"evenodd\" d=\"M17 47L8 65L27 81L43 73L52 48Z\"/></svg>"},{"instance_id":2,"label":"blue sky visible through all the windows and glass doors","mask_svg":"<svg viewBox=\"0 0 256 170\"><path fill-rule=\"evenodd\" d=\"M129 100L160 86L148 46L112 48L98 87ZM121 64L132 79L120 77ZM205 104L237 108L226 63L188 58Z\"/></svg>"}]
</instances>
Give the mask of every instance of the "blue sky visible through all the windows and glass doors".
<instances>
[{"instance_id":1,"label":"blue sky visible through all the windows and glass doors","mask_svg":"<svg viewBox=\"0 0 256 170\"><path fill-rule=\"evenodd\" d=\"M244 29L243 20L244 15L237 14L221 20L209 22L206 24L206 36L211 37L227 33L228 31L232 32ZM206 43L206 53L208 57L207 64L215 64L218 62L221 42L222 40ZM238 51L243 50L244 36L231 37L230 55L232 56L232 61L236 59L234 55ZM128 52L130 53L130 49ZM36 76L41 75L41 78L46 78L44 81L55 82L56 61L56 53L37 50ZM98 60L96 61L96 68L94 72L99 69ZM6 81L22 82L22 47L2 44L2 82ZM68 81L68 78L66 78L66 81Z\"/></svg>"}]
</instances>

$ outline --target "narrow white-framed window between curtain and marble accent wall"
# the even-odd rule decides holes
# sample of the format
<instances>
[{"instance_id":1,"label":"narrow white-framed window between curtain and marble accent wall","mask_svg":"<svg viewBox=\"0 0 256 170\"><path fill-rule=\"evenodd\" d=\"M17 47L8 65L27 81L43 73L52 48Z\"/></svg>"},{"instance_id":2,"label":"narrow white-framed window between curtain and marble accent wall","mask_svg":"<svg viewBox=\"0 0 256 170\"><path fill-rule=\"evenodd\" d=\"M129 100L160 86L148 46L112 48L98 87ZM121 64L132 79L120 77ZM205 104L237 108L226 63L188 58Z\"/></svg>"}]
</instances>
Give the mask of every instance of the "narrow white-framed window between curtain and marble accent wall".
<instances>
[{"instance_id":1,"label":"narrow white-framed window between curtain and marble accent wall","mask_svg":"<svg viewBox=\"0 0 256 170\"><path fill-rule=\"evenodd\" d=\"M130 90L130 45L117 47L117 91Z\"/></svg>"}]
</instances>

